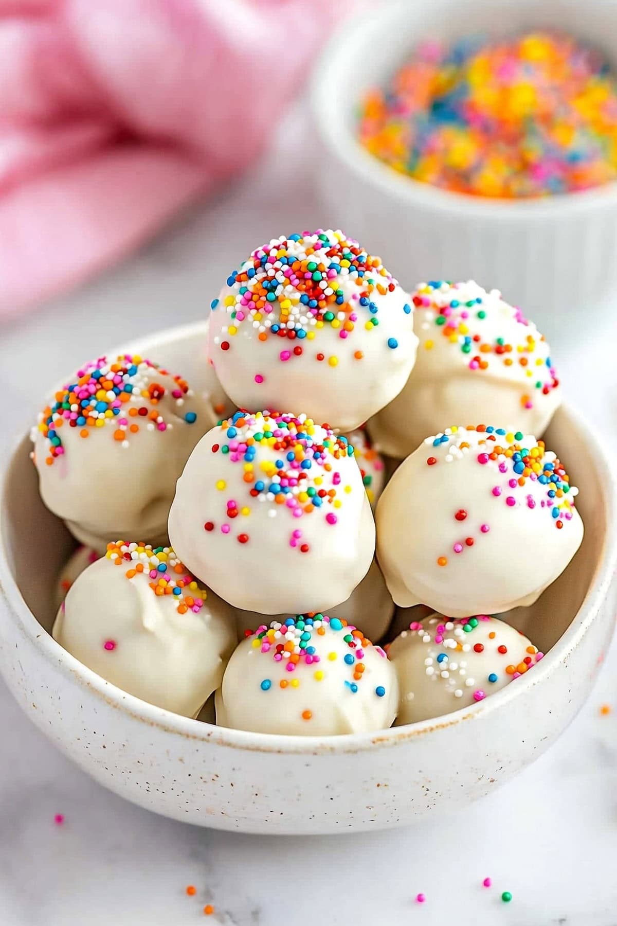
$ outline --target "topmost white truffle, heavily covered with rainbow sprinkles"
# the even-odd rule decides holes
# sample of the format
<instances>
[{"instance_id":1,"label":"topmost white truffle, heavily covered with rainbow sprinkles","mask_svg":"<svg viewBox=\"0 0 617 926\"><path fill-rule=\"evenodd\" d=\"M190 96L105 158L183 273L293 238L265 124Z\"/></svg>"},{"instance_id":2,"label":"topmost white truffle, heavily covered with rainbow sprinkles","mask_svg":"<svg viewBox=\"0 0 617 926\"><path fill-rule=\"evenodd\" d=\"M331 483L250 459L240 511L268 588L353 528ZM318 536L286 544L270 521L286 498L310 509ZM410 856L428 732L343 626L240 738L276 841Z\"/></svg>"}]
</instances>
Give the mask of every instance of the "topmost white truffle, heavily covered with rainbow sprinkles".
<instances>
[{"instance_id":1,"label":"topmost white truffle, heavily covered with rainbow sprinkles","mask_svg":"<svg viewBox=\"0 0 617 926\"><path fill-rule=\"evenodd\" d=\"M411 297L342 232L258 247L212 303L210 357L238 406L302 409L340 431L401 392L416 346Z\"/></svg>"}]
</instances>

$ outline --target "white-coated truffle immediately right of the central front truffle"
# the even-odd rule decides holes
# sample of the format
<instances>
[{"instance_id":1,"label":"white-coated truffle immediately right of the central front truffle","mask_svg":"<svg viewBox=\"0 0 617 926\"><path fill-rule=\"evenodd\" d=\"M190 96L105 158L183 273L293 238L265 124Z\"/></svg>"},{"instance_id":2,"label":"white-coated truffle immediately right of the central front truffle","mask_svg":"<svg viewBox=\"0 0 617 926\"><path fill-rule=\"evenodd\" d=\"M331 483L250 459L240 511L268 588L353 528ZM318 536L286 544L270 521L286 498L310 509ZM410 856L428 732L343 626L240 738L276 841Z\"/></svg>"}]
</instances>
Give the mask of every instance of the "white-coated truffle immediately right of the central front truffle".
<instances>
[{"instance_id":1,"label":"white-coated truffle immediately right of the central front truffle","mask_svg":"<svg viewBox=\"0 0 617 926\"><path fill-rule=\"evenodd\" d=\"M427 438L377 505L390 594L455 618L533 604L583 539L576 494L555 454L521 432L478 425Z\"/></svg>"}]
</instances>

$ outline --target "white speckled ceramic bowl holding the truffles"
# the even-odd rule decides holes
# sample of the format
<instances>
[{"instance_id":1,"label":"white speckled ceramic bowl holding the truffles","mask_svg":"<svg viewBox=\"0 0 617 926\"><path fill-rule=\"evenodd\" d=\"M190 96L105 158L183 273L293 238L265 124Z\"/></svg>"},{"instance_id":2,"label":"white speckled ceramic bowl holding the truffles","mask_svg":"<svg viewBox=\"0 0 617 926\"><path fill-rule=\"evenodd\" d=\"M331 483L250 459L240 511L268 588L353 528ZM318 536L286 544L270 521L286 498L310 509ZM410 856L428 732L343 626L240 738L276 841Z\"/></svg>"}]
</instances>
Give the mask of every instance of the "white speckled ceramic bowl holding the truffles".
<instances>
[{"instance_id":1,"label":"white speckled ceramic bowl holding the truffles","mask_svg":"<svg viewBox=\"0 0 617 926\"><path fill-rule=\"evenodd\" d=\"M202 329L162 332L132 349L174 369L180 344ZM460 806L556 739L611 637L617 510L609 465L569 409L555 416L548 443L581 490L585 540L537 605L513 617L547 656L475 707L374 734L286 737L218 728L124 694L48 632L52 589L73 542L43 507L27 438L8 460L0 495L2 674L31 720L82 769L177 820L244 832L349 832Z\"/></svg>"}]
</instances>

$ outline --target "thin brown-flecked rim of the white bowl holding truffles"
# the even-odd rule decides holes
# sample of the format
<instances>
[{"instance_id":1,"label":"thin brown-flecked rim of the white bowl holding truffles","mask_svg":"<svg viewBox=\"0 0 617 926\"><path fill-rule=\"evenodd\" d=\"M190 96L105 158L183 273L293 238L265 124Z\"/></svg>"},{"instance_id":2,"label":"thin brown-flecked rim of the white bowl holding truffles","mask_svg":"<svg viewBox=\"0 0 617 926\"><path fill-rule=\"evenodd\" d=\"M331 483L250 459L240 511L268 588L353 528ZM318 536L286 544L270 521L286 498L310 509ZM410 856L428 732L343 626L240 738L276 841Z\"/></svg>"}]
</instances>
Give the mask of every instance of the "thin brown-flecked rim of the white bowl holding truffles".
<instances>
[{"instance_id":1,"label":"thin brown-flecked rim of the white bowl holding truffles","mask_svg":"<svg viewBox=\"0 0 617 926\"><path fill-rule=\"evenodd\" d=\"M146 352L155 344L165 343L203 332L204 320L163 329L145 336L144 338L123 345L117 353ZM108 351L113 354L115 351ZM146 355L147 356L147 355ZM70 378L70 374L69 377ZM51 392L51 390L50 390ZM133 694L123 691L111 682L88 669L78 659L71 656L67 650L56 643L51 633L45 631L27 606L9 567L8 551L6 549L5 535L2 530L2 509L6 493L6 482L9 470L12 468L14 458L19 448L28 438L29 430L19 432L19 436L12 444L12 449L5 457L4 465L0 471L0 605L6 604L9 619L12 619L19 632L40 650L50 664L69 679L77 681L90 692L100 696L109 706L115 707L130 715L134 720L140 720L148 726L158 727L167 732L174 733L184 740L193 740L204 745L208 743L228 746L233 749L242 749L252 752L301 755L341 755L364 752L376 747L391 747L400 745L413 739L415 736L432 731L455 726L463 720L479 720L499 709L514 697L518 697L530 687L537 685L558 663L571 653L585 635L590 624L598 616L598 610L608 594L609 587L617 571L617 485L611 477L609 452L605 448L595 430L588 425L582 412L574 410L569 405L562 404L557 413L565 414L571 426L579 432L589 446L590 457L595 463L599 478L603 507L606 511L606 535L602 546L602 554L598 559L592 581L587 588L585 598L574 615L567 630L561 634L559 640L550 647L546 656L534 666L532 672L526 672L516 679L516 684L508 684L499 692L478 702L471 707L462 707L449 714L429 720L418 720L415 723L393 726L385 730L344 733L339 736L293 736L291 734L261 733L245 730L234 730L229 727L220 727L204 720L193 720L181 717L163 707L155 707ZM556 580L558 581L558 580Z\"/></svg>"}]
</instances>

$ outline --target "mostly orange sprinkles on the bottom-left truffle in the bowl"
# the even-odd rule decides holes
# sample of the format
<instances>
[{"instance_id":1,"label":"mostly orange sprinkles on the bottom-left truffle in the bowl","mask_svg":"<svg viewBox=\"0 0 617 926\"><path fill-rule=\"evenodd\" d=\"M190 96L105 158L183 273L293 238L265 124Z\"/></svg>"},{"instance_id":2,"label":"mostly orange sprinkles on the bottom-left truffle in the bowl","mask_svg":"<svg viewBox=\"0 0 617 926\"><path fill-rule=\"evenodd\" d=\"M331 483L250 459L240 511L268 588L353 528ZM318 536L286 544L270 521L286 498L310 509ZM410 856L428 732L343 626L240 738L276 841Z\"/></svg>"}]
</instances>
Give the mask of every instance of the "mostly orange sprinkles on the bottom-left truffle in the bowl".
<instances>
[{"instance_id":1,"label":"mostly orange sprinkles on the bottom-left truffle in the bowl","mask_svg":"<svg viewBox=\"0 0 617 926\"><path fill-rule=\"evenodd\" d=\"M179 561L170 546L153 548L151 544L126 544L118 540L115 544L107 544L105 557L115 566L124 567L129 581L145 574L150 579L148 584L154 594L173 596L178 602L179 614L186 614L189 610L199 614L204 607L207 590ZM104 645L105 649L114 650L117 644L107 640Z\"/></svg>"}]
</instances>

